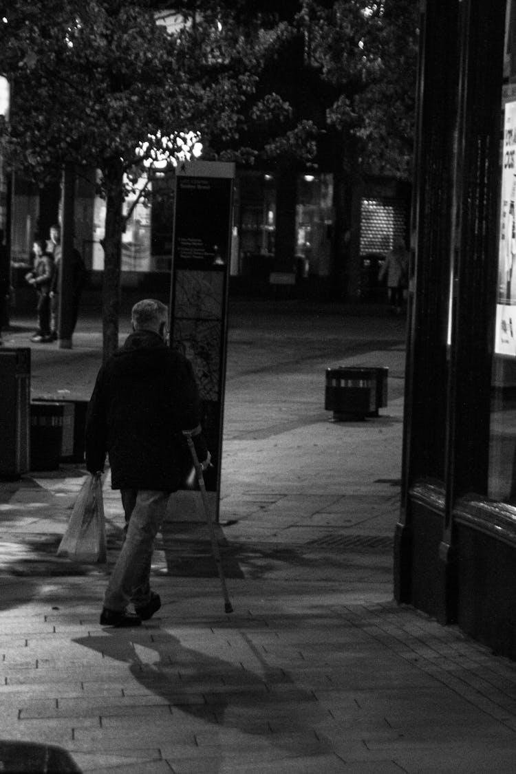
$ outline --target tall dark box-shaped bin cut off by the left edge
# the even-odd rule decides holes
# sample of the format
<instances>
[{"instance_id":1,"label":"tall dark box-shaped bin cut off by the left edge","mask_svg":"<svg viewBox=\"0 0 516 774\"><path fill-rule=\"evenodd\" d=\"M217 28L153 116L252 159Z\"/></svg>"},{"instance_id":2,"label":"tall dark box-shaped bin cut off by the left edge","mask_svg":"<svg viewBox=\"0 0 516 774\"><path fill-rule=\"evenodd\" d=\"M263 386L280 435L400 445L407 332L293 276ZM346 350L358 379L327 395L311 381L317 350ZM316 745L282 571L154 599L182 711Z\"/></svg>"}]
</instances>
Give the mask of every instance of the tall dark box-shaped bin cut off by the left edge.
<instances>
[{"instance_id":1,"label":"tall dark box-shaped bin cut off by the left edge","mask_svg":"<svg viewBox=\"0 0 516 774\"><path fill-rule=\"evenodd\" d=\"M0 349L0 478L30 467L30 348Z\"/></svg>"}]
</instances>

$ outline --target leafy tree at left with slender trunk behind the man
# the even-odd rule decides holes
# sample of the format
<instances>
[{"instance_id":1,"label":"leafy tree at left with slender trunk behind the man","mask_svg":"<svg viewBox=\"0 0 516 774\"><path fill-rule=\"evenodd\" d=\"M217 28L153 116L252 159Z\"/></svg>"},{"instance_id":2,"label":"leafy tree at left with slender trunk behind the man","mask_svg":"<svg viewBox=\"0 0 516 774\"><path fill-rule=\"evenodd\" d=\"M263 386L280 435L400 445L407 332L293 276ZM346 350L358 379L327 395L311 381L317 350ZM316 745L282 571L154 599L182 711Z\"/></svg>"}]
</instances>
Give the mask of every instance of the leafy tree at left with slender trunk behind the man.
<instances>
[{"instance_id":1,"label":"leafy tree at left with slender trunk behind the man","mask_svg":"<svg viewBox=\"0 0 516 774\"><path fill-rule=\"evenodd\" d=\"M14 94L0 150L39 183L65 163L99 170L106 199L104 357L118 347L122 205L142 163L173 157L194 131L229 139L261 53L214 11L176 28L149 0L11 0L0 22L0 71ZM188 4L186 4L188 5ZM191 22L191 19L190 19ZM257 43L258 42L258 43Z\"/></svg>"}]
</instances>

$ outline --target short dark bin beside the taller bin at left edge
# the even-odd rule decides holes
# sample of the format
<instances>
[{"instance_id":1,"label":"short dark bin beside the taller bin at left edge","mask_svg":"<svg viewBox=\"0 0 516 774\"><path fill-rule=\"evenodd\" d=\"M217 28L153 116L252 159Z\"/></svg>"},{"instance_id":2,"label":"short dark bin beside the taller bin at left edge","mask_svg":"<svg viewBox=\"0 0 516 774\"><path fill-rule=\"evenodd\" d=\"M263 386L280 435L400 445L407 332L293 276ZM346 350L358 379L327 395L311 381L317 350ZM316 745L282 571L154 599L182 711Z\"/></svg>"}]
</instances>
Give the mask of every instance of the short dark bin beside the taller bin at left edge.
<instances>
[{"instance_id":1,"label":"short dark bin beside the taller bin at left edge","mask_svg":"<svg viewBox=\"0 0 516 774\"><path fill-rule=\"evenodd\" d=\"M30 404L30 470L56 471L63 456L73 454L73 406L32 401Z\"/></svg>"}]
</instances>

